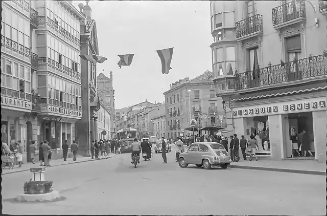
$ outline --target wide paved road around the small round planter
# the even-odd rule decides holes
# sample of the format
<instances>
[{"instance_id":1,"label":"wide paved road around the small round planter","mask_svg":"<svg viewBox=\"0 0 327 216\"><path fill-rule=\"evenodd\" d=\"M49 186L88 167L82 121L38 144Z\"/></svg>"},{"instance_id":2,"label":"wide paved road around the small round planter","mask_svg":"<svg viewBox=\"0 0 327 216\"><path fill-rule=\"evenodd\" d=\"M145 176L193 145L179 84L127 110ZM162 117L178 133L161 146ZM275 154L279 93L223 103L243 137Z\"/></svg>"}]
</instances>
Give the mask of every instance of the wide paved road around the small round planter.
<instances>
[{"instance_id":1,"label":"wide paved road around the small round planter","mask_svg":"<svg viewBox=\"0 0 327 216\"><path fill-rule=\"evenodd\" d=\"M100 161L50 167L65 201L16 203L30 172L3 176L3 213L8 214L258 214L325 215L325 177L284 172L180 168L175 154L141 161L130 154Z\"/></svg>"}]
</instances>

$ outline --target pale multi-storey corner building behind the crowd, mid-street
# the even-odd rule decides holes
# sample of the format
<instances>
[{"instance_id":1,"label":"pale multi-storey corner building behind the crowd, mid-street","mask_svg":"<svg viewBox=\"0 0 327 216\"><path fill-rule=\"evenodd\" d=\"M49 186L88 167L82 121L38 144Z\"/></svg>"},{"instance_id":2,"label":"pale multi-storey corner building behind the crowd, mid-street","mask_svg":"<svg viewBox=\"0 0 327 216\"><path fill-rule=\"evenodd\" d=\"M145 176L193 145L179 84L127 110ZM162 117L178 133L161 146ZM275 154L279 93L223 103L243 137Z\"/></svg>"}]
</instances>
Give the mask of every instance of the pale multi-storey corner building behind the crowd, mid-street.
<instances>
[{"instance_id":1,"label":"pale multi-storey corner building behind the crowd, mid-street","mask_svg":"<svg viewBox=\"0 0 327 216\"><path fill-rule=\"evenodd\" d=\"M197 120L198 129L224 125L222 99L215 92L212 72L208 70L194 79L186 77L172 83L171 89L164 93L167 138L191 135L185 130L191 119Z\"/></svg>"}]
</instances>

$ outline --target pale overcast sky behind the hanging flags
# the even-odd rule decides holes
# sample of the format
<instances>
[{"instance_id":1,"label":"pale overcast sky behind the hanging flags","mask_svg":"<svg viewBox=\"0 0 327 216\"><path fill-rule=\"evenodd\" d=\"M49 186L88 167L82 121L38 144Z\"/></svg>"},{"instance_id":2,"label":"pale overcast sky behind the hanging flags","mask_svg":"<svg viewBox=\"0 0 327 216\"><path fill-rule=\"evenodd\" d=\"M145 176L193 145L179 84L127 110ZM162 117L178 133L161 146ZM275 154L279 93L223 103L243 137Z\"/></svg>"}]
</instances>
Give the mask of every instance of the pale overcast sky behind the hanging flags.
<instances>
[{"instance_id":1,"label":"pale overcast sky behind the hanging flags","mask_svg":"<svg viewBox=\"0 0 327 216\"><path fill-rule=\"evenodd\" d=\"M90 1L89 6L99 54L108 58L97 64L97 75L109 77L112 71L115 109L145 100L162 103L171 83L212 71L209 1ZM172 47L172 69L163 75L156 50ZM131 65L119 69L118 55L130 53Z\"/></svg>"}]
</instances>

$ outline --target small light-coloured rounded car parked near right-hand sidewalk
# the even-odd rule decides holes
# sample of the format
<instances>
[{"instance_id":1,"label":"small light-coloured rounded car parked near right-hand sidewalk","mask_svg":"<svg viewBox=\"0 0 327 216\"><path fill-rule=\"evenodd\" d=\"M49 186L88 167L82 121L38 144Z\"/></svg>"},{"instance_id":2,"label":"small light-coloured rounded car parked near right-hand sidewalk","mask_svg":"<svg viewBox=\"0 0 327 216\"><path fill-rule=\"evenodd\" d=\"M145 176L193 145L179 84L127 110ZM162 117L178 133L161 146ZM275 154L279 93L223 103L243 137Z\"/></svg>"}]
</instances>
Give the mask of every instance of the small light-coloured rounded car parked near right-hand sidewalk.
<instances>
[{"instance_id":1,"label":"small light-coloured rounded car parked near right-hand sidewalk","mask_svg":"<svg viewBox=\"0 0 327 216\"><path fill-rule=\"evenodd\" d=\"M223 169L230 167L230 158L224 146L217 142L192 143L189 149L179 155L178 164L185 168L189 164L195 164L204 169L220 166Z\"/></svg>"}]
</instances>

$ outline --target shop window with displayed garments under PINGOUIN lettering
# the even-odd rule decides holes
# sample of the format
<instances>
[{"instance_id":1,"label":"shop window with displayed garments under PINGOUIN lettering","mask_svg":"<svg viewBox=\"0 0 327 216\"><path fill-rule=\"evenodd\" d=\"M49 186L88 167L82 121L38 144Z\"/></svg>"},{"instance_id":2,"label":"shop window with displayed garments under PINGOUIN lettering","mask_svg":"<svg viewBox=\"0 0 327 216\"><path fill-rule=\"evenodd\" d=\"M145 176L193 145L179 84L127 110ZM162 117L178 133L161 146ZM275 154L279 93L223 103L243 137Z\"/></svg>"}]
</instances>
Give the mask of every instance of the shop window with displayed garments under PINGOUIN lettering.
<instances>
[{"instance_id":1,"label":"shop window with displayed garments under PINGOUIN lettering","mask_svg":"<svg viewBox=\"0 0 327 216\"><path fill-rule=\"evenodd\" d=\"M270 140L269 140L269 123L267 116L259 116L254 118L245 118L246 138L249 139L251 135L258 142L259 150L256 155L270 156Z\"/></svg>"}]
</instances>

